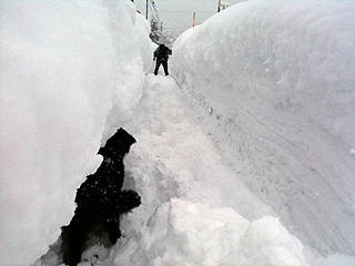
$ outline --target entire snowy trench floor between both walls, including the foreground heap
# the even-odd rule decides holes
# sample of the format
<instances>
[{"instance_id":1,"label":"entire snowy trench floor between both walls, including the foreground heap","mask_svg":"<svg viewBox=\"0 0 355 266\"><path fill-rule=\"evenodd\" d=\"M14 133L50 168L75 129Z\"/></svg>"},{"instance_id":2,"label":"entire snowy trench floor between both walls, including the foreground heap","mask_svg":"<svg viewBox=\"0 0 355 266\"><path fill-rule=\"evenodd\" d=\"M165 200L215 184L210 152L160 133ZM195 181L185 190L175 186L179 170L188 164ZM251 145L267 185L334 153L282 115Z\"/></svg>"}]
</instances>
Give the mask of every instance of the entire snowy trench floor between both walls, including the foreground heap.
<instances>
[{"instance_id":1,"label":"entire snowy trench floor between both walls, including the foreground heap","mask_svg":"<svg viewBox=\"0 0 355 266\"><path fill-rule=\"evenodd\" d=\"M306 265L301 242L224 164L172 78L146 76L133 117L124 186L142 205L123 217L106 265Z\"/></svg>"}]
</instances>

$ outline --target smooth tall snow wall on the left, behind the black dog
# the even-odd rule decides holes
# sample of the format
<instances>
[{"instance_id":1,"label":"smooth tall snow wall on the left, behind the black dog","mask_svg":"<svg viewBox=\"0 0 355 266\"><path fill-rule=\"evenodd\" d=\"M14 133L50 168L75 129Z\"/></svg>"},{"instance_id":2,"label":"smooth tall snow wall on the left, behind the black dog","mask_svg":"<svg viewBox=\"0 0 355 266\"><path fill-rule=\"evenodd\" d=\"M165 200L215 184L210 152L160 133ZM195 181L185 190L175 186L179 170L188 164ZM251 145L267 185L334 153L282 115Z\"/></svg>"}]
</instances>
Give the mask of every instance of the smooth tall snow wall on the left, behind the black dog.
<instances>
[{"instance_id":1,"label":"smooth tall snow wall on the left, behind the black dog","mask_svg":"<svg viewBox=\"0 0 355 266\"><path fill-rule=\"evenodd\" d=\"M152 61L131 1L0 2L0 265L30 265L74 213Z\"/></svg>"}]
</instances>

